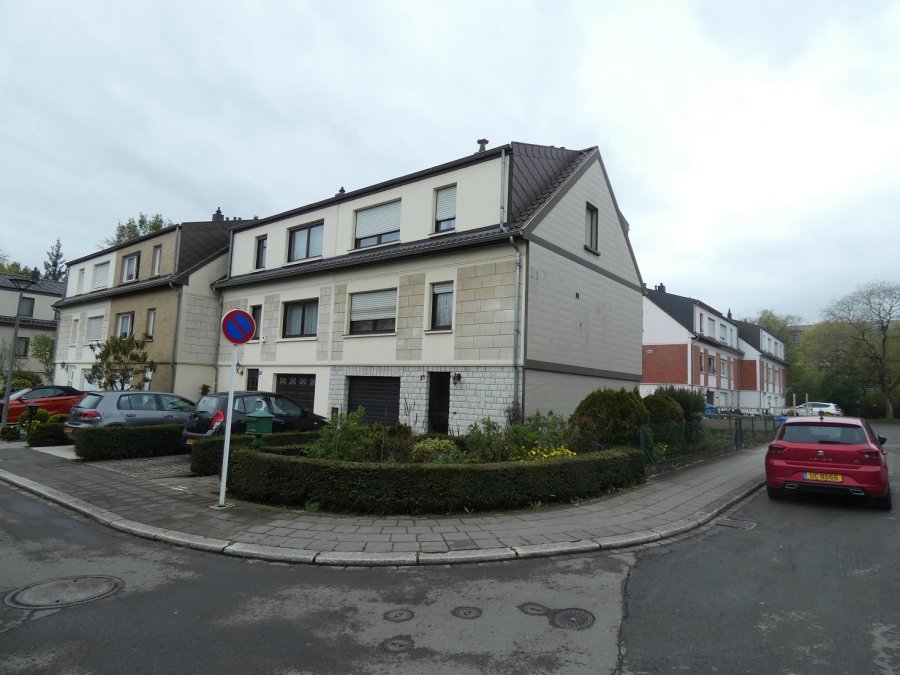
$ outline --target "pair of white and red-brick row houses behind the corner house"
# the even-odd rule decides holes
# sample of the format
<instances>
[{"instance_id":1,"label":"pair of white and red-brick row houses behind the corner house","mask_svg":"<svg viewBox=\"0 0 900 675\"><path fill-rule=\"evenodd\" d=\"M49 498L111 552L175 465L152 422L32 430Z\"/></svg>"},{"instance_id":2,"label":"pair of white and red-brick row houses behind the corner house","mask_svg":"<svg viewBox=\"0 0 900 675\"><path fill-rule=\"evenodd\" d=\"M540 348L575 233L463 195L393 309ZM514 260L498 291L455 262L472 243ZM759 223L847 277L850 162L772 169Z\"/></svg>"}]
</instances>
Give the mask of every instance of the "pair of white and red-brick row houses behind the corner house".
<instances>
[{"instance_id":1,"label":"pair of white and red-brick row houses behind the corner house","mask_svg":"<svg viewBox=\"0 0 900 675\"><path fill-rule=\"evenodd\" d=\"M718 408L772 412L784 406L784 343L755 324L666 291L644 298L642 395L685 387Z\"/></svg>"}]
</instances>

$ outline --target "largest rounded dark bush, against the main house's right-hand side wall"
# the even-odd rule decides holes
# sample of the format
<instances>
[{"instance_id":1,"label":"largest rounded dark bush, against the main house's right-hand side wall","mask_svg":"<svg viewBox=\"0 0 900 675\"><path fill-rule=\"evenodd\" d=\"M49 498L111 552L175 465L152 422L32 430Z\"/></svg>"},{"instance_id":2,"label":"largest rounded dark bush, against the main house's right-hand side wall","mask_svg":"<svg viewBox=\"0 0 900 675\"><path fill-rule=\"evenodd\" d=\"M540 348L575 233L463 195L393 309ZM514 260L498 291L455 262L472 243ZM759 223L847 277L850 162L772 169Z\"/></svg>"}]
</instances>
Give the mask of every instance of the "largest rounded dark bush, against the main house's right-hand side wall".
<instances>
[{"instance_id":1,"label":"largest rounded dark bush, against the main house's right-hand side wall","mask_svg":"<svg viewBox=\"0 0 900 675\"><path fill-rule=\"evenodd\" d=\"M640 445L640 427L650 418L637 391L598 389L588 394L571 422L579 429L576 449L599 450L617 445Z\"/></svg>"}]
</instances>

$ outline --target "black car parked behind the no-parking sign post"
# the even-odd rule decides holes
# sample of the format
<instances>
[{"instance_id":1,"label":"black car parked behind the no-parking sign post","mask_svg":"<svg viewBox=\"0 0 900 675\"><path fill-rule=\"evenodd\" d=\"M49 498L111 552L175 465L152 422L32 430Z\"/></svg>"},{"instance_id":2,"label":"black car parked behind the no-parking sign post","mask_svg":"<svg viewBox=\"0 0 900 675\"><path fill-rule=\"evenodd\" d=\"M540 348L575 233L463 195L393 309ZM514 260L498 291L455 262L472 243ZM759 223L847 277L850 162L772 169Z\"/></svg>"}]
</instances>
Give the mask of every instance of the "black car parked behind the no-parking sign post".
<instances>
[{"instance_id":1,"label":"black car parked behind the no-parking sign post","mask_svg":"<svg viewBox=\"0 0 900 675\"><path fill-rule=\"evenodd\" d=\"M228 406L228 392L206 394L194 406L184 427L181 438L185 445L191 445L198 438L207 438L225 433L225 408ZM304 408L284 394L267 391L236 391L231 421L231 433L244 433L247 415L255 410L265 410L275 419L272 431L311 431L321 429L328 420Z\"/></svg>"}]
</instances>

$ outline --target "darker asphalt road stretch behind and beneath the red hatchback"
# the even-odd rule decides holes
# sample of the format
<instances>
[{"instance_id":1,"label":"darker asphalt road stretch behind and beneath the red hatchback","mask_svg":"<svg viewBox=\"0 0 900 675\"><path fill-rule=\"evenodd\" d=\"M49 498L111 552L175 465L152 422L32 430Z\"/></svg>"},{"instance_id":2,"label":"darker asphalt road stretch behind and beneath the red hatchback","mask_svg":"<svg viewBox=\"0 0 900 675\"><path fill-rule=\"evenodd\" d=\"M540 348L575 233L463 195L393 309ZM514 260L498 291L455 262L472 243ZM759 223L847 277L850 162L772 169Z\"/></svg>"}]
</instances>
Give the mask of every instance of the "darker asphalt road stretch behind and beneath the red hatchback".
<instances>
[{"instance_id":1,"label":"darker asphalt road stretch behind and beneath the red hatchback","mask_svg":"<svg viewBox=\"0 0 900 675\"><path fill-rule=\"evenodd\" d=\"M900 494L900 428L880 433ZM898 512L760 491L698 536L639 552L621 672L900 673Z\"/></svg>"}]
</instances>

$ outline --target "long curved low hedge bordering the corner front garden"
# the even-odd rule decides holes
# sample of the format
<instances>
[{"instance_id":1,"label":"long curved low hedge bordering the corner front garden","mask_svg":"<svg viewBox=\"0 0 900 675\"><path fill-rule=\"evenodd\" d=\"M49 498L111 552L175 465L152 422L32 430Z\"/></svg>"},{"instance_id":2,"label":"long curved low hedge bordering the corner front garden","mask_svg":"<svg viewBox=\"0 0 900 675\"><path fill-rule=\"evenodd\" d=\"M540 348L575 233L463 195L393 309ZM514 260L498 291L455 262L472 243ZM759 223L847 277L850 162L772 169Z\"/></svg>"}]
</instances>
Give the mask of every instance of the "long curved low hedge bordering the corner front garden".
<instances>
[{"instance_id":1,"label":"long curved low hedge bordering the corner front garden","mask_svg":"<svg viewBox=\"0 0 900 675\"><path fill-rule=\"evenodd\" d=\"M278 506L353 513L448 513L570 501L644 480L639 449L497 464L362 464L233 448L228 489Z\"/></svg>"}]
</instances>

